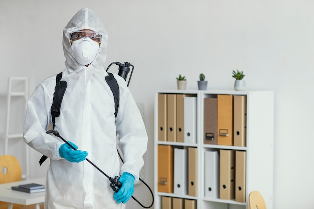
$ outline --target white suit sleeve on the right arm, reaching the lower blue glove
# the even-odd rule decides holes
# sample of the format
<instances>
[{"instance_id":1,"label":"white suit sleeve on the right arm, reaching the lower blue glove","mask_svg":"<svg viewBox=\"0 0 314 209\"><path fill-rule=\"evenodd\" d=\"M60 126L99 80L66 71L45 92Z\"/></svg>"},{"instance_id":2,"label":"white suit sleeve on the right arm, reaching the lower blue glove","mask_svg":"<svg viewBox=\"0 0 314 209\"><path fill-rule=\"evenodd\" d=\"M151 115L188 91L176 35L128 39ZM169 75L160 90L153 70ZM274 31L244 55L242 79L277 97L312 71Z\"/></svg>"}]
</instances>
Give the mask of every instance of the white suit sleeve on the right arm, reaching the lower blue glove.
<instances>
[{"instance_id":1,"label":"white suit sleeve on the right arm, reaching the lower blue glove","mask_svg":"<svg viewBox=\"0 0 314 209\"><path fill-rule=\"evenodd\" d=\"M116 79L120 88L116 127L124 158L121 174L128 172L138 181L139 172L144 165L143 155L147 149L148 137L140 111L125 81L120 77Z\"/></svg>"}]
</instances>

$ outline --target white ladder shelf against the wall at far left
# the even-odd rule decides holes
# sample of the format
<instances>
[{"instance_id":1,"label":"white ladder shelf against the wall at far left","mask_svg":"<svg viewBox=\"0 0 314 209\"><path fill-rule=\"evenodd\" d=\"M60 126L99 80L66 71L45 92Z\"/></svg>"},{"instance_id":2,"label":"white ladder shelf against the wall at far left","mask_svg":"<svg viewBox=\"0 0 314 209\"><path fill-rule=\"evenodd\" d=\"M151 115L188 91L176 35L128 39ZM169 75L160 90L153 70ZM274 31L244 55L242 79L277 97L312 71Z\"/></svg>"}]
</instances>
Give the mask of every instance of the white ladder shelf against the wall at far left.
<instances>
[{"instance_id":1,"label":"white ladder shelf against the wall at far left","mask_svg":"<svg viewBox=\"0 0 314 209\"><path fill-rule=\"evenodd\" d=\"M21 91L14 91L13 85L16 83L23 83L24 88ZM8 144L9 139L22 139L23 133L22 128L20 133L9 133L10 132L10 113L11 113L11 99L12 97L24 97L24 110L27 107L28 101L28 78L27 77L9 77L8 82L8 92L7 92L7 119L6 119L6 132L5 132L5 147L4 153L5 155L8 154ZM26 173L22 175L22 178L28 179L29 178L29 149L28 146L25 145L25 165L26 165Z\"/></svg>"}]
</instances>

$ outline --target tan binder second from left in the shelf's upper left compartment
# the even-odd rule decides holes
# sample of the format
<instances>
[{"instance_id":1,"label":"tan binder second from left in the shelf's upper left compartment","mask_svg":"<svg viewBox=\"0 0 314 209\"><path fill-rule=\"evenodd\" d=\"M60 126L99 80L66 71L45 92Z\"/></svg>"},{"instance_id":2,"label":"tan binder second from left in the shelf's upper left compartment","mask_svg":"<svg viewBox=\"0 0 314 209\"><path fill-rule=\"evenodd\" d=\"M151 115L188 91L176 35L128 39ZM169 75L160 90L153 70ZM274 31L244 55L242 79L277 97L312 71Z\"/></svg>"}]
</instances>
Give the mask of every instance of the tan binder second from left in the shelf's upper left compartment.
<instances>
[{"instance_id":1,"label":"tan binder second from left in the shelf's upper left compartment","mask_svg":"<svg viewBox=\"0 0 314 209\"><path fill-rule=\"evenodd\" d=\"M176 141L176 94L167 94L167 141Z\"/></svg>"}]
</instances>

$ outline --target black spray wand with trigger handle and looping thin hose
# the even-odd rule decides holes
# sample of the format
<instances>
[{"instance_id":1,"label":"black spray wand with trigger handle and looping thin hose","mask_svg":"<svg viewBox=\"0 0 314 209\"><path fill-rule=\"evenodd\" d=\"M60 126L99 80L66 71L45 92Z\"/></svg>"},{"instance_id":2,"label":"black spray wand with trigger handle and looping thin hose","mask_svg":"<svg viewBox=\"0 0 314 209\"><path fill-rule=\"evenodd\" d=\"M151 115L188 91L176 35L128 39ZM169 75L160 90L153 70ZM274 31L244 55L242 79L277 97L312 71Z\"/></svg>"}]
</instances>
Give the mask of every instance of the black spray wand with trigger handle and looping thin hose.
<instances>
[{"instance_id":1,"label":"black spray wand with trigger handle and looping thin hose","mask_svg":"<svg viewBox=\"0 0 314 209\"><path fill-rule=\"evenodd\" d=\"M47 131L46 133L48 134L51 134L53 133L55 136L59 137L62 141L64 141L64 143L66 143L67 145L69 145L72 149L74 150L77 150L75 149L67 140L65 140L63 137L60 136L59 132L58 131L55 131L55 130L49 130ZM121 158L121 155L120 153L118 152L120 158ZM122 158L121 158L122 160ZM118 192L122 186L122 183L119 181L120 177L119 176L115 176L114 178L108 176L104 171L102 171L99 167L97 167L94 163L92 163L92 161L90 161L89 159L86 158L86 161L89 162L92 166L94 166L99 172L101 172L104 176L106 176L109 181L111 182L110 184L110 187L112 188L113 191L115 192ZM123 160L122 160L123 162ZM153 197L153 192L152 190L150 189L150 187L142 180L142 179L139 179L141 182L143 182L149 189L149 191L151 192L151 196L152 196L152 204L149 206L149 207L145 207L144 205L142 205L134 196L132 196L132 198L142 207L144 208L150 208L152 207L153 203L154 203L154 197Z\"/></svg>"}]
</instances>

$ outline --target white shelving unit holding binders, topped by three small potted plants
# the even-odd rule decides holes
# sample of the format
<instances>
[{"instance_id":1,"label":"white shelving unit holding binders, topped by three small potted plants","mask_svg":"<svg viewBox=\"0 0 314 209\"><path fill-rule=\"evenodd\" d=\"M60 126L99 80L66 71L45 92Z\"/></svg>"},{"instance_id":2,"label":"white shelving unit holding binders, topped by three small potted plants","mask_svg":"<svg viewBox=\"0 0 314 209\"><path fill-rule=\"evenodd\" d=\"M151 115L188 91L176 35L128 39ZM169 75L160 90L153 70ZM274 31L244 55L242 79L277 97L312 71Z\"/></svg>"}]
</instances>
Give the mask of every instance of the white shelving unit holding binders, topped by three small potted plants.
<instances>
[{"instance_id":1,"label":"white shelving unit holding binders, topped by three small potted plants","mask_svg":"<svg viewBox=\"0 0 314 209\"><path fill-rule=\"evenodd\" d=\"M194 94L197 96L197 143L158 141L158 94ZM224 146L203 143L204 98L212 95L244 95L247 99L246 146ZM155 209L163 209L162 196L197 201L197 209L248 209L248 195L258 190L264 197L267 209L273 207L273 130L274 130L274 92L273 91L228 91L228 90L161 90L155 95L154 110L154 195ZM158 192L158 145L197 147L197 196L177 195ZM205 197L204 153L208 150L246 151L246 202ZM174 176L175 178L176 176ZM177 209L177 208L173 208Z\"/></svg>"}]
</instances>

